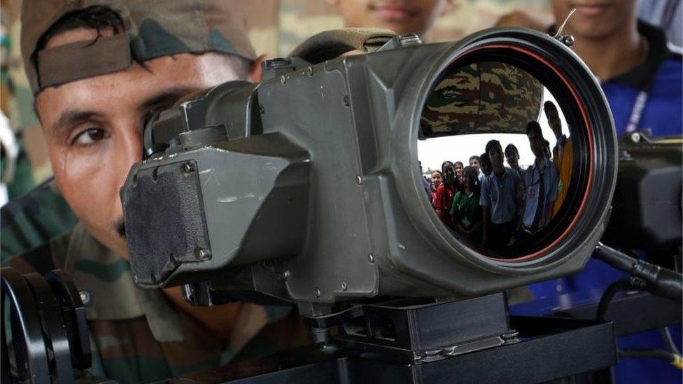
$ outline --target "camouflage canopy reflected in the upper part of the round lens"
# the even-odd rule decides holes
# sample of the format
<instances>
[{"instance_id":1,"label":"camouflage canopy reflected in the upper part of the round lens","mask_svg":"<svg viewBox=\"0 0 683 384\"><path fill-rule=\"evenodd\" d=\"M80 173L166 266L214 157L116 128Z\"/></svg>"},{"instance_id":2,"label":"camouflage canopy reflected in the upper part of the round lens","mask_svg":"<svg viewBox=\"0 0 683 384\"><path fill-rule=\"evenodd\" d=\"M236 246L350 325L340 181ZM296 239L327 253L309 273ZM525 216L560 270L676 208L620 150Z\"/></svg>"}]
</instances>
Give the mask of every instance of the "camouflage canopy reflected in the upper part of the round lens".
<instances>
[{"instance_id":1,"label":"camouflage canopy reflected in the upper part of the round lens","mask_svg":"<svg viewBox=\"0 0 683 384\"><path fill-rule=\"evenodd\" d=\"M425 104L421 127L428 137L453 134L526 134L536 121L543 85L516 66L470 64L441 80Z\"/></svg>"}]
</instances>

